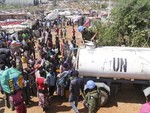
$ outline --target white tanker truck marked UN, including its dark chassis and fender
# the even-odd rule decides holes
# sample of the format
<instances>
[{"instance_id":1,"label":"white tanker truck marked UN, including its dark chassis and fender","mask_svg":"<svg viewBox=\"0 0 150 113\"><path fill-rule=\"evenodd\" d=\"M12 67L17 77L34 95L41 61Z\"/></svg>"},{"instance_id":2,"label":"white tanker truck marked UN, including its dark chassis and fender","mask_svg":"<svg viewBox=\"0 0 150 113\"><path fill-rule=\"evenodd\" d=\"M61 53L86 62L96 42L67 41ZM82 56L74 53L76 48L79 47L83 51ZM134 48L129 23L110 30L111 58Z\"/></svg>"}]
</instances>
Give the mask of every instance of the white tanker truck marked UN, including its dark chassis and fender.
<instances>
[{"instance_id":1,"label":"white tanker truck marked UN, including its dark chassis and fender","mask_svg":"<svg viewBox=\"0 0 150 113\"><path fill-rule=\"evenodd\" d=\"M77 53L75 68L85 82L93 80L101 87L101 104L105 105L111 86L135 83L145 86L145 97L150 94L150 48L96 47L86 43Z\"/></svg>"}]
</instances>

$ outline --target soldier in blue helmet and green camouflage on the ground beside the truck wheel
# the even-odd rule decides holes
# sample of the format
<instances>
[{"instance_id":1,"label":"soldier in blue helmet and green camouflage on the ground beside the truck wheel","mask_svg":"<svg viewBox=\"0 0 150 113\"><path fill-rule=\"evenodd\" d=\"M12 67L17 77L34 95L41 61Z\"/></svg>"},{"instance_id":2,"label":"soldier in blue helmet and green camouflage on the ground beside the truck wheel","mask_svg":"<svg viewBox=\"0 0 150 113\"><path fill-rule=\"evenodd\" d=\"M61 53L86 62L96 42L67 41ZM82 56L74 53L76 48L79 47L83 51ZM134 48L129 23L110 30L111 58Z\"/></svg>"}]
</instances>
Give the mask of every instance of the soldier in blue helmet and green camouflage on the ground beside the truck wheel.
<instances>
[{"instance_id":1,"label":"soldier in blue helmet and green camouflage on the ground beside the truck wheel","mask_svg":"<svg viewBox=\"0 0 150 113\"><path fill-rule=\"evenodd\" d=\"M84 105L88 108L88 113L97 113L101 104L100 88L92 80L87 81L85 87Z\"/></svg>"}]
</instances>

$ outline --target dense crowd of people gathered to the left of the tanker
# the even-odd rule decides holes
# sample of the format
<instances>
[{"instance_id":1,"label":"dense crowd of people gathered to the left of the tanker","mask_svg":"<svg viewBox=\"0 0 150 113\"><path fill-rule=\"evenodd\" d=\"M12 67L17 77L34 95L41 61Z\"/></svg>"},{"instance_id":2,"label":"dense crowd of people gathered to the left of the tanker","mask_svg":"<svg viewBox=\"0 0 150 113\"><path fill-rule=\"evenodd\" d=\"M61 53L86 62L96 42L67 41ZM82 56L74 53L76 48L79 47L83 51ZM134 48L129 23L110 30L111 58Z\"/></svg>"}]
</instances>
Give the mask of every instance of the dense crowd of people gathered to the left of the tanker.
<instances>
[{"instance_id":1,"label":"dense crowd of people gathered to the left of the tanker","mask_svg":"<svg viewBox=\"0 0 150 113\"><path fill-rule=\"evenodd\" d=\"M39 106L46 111L55 91L59 96L65 96L65 92L69 91L69 102L75 112L79 113L77 105L80 91L84 93L84 81L74 68L78 49L74 24L67 24L72 25L72 31L67 31L66 25L59 25L62 23L57 21L53 26L46 26L39 21L37 23L39 39L32 29L22 30L17 36L9 35L6 31L1 33L0 77L7 69L18 70L23 76L23 87L14 88L11 93L3 90L0 85L5 95L5 105L12 110L15 108L17 113L26 113L31 96L37 96ZM72 33L71 41L67 40L67 32ZM27 63L26 68L24 63ZM95 111L89 110L89 113Z\"/></svg>"}]
</instances>

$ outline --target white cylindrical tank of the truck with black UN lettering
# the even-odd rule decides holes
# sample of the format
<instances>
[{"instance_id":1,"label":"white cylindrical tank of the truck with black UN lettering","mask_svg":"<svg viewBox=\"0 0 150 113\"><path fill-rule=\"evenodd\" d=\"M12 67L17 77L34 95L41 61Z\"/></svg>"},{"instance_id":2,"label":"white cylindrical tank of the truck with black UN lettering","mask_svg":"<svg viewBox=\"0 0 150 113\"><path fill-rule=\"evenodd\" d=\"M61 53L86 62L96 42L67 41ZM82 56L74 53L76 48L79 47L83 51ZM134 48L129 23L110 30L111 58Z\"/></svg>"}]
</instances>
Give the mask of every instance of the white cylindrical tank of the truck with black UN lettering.
<instances>
[{"instance_id":1,"label":"white cylindrical tank of the truck with black UN lettering","mask_svg":"<svg viewBox=\"0 0 150 113\"><path fill-rule=\"evenodd\" d=\"M80 76L150 80L150 48L81 47L76 69Z\"/></svg>"}]
</instances>

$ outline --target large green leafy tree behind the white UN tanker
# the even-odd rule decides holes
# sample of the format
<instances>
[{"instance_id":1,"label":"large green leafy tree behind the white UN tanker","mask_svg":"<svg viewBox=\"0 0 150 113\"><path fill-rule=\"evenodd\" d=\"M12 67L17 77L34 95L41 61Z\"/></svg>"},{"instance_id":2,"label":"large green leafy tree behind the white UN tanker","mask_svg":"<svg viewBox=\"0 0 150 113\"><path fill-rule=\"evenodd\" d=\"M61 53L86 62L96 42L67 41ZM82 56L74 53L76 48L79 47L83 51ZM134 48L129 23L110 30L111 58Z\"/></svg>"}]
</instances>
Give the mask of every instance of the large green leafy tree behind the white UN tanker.
<instances>
[{"instance_id":1,"label":"large green leafy tree behind the white UN tanker","mask_svg":"<svg viewBox=\"0 0 150 113\"><path fill-rule=\"evenodd\" d=\"M99 42L103 39L111 42L109 45L150 46L149 0L118 0L111 14L111 24L100 26Z\"/></svg>"}]
</instances>

